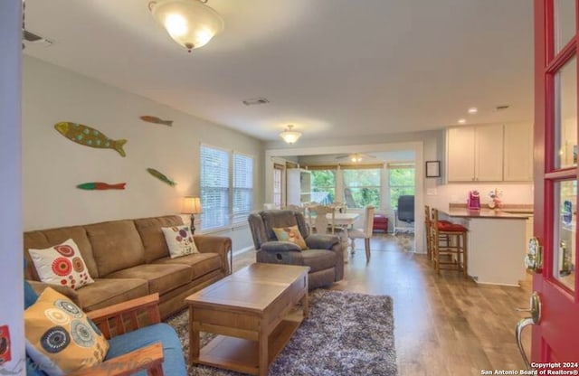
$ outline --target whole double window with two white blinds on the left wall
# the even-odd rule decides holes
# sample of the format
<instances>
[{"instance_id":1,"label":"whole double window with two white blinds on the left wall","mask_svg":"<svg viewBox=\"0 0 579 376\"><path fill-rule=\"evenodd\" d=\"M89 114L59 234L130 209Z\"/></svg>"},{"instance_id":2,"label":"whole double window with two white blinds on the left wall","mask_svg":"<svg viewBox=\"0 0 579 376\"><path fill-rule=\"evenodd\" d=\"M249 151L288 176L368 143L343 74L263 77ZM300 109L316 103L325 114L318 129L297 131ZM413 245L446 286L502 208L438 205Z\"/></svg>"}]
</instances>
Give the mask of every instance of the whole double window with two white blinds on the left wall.
<instances>
[{"instance_id":1,"label":"whole double window with two white blinds on the left wall","mask_svg":"<svg viewBox=\"0 0 579 376\"><path fill-rule=\"evenodd\" d=\"M233 174L230 178L230 158ZM201 229L245 221L253 210L253 158L201 146ZM233 193L233 194L231 194Z\"/></svg>"}]
</instances>

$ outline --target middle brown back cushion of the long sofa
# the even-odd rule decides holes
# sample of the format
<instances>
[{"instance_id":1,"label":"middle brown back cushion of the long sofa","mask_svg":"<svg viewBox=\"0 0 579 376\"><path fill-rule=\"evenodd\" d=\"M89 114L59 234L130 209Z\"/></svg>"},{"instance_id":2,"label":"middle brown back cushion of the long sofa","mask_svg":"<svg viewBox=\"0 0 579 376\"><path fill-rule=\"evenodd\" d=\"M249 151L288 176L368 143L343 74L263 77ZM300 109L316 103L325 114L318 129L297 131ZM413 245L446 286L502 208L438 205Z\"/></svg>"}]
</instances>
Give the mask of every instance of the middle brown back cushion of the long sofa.
<instances>
[{"instance_id":1,"label":"middle brown back cushion of the long sofa","mask_svg":"<svg viewBox=\"0 0 579 376\"><path fill-rule=\"evenodd\" d=\"M85 226L100 277L145 263L145 249L133 221L109 221Z\"/></svg>"}]
</instances>

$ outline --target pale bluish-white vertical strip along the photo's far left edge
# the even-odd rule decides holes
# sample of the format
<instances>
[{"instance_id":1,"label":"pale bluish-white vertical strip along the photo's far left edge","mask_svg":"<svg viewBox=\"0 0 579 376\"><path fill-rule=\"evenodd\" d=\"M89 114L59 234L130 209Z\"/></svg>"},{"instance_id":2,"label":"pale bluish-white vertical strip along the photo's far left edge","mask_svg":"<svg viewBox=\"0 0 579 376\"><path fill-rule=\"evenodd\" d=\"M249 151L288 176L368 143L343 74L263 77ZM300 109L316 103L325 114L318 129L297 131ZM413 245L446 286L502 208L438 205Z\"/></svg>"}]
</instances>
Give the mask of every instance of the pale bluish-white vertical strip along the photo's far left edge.
<instances>
[{"instance_id":1,"label":"pale bluish-white vertical strip along the photo's far left edge","mask_svg":"<svg viewBox=\"0 0 579 376\"><path fill-rule=\"evenodd\" d=\"M0 325L8 325L12 360L0 374L24 374L24 262L21 193L21 0L0 2Z\"/></svg>"}]
</instances>

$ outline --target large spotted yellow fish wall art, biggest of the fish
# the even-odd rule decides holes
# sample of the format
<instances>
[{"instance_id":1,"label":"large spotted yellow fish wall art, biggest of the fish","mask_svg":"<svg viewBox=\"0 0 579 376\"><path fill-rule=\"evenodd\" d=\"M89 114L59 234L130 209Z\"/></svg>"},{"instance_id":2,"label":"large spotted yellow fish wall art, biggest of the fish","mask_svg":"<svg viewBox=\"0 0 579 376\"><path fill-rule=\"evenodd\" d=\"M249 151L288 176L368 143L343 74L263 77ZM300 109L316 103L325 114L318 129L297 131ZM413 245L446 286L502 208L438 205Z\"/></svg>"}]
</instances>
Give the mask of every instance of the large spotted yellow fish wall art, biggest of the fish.
<instances>
[{"instance_id":1,"label":"large spotted yellow fish wall art, biggest of the fish","mask_svg":"<svg viewBox=\"0 0 579 376\"><path fill-rule=\"evenodd\" d=\"M79 123L61 121L54 125L62 136L84 146L99 147L101 149L116 150L119 155L126 156L123 146L127 143L126 139L113 140L103 135L97 129L89 126L83 126Z\"/></svg>"}]
</instances>

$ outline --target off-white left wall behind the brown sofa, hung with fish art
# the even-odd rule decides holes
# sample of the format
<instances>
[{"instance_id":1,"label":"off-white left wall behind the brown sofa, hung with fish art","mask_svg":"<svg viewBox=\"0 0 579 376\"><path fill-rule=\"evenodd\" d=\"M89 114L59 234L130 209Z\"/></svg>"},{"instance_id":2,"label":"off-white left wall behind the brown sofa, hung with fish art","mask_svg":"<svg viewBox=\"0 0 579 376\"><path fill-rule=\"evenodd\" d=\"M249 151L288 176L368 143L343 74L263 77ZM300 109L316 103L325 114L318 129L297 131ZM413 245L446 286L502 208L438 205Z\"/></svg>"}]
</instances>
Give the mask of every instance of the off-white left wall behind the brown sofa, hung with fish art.
<instances>
[{"instance_id":1,"label":"off-white left wall behind the brown sofa, hung with fish art","mask_svg":"<svg viewBox=\"0 0 579 376\"><path fill-rule=\"evenodd\" d=\"M30 57L24 57L23 91L24 230L178 213L182 196L199 194L201 144L255 156L254 204L262 207L264 149L258 139ZM144 122L143 115L173 120L173 127ZM68 140L54 129L60 121L126 138L127 156ZM160 182L147 167L178 184ZM86 182L127 188L76 188ZM236 234L234 249L251 244L245 229L247 236Z\"/></svg>"}]
</instances>

